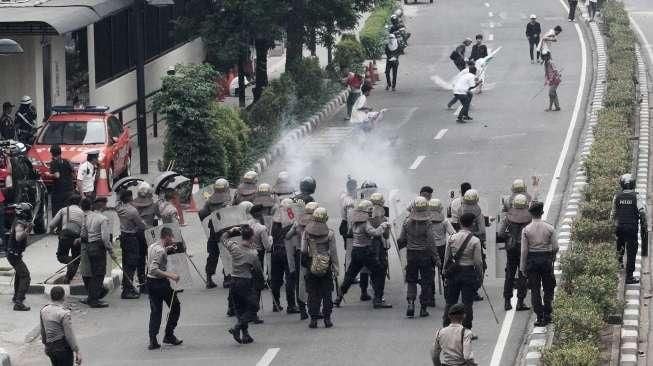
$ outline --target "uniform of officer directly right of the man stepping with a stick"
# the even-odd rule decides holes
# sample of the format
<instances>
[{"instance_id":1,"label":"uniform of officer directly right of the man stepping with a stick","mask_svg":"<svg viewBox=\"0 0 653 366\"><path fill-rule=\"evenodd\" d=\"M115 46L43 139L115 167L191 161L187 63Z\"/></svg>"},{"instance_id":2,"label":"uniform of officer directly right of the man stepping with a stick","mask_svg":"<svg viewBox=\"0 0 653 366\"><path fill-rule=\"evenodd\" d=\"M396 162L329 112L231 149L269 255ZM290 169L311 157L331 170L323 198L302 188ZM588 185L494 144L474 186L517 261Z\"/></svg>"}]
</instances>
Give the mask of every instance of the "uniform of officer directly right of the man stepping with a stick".
<instances>
[{"instance_id":1,"label":"uniform of officer directly right of the man stepping with a stick","mask_svg":"<svg viewBox=\"0 0 653 366\"><path fill-rule=\"evenodd\" d=\"M225 237L226 240L226 237ZM254 340L249 335L250 322L257 319L259 310L259 293L262 288L263 269L255 249L250 248L250 242L237 243L228 241L226 249L232 258L231 286L229 298L234 303L236 325L229 329L238 343L251 343Z\"/></svg>"}]
</instances>

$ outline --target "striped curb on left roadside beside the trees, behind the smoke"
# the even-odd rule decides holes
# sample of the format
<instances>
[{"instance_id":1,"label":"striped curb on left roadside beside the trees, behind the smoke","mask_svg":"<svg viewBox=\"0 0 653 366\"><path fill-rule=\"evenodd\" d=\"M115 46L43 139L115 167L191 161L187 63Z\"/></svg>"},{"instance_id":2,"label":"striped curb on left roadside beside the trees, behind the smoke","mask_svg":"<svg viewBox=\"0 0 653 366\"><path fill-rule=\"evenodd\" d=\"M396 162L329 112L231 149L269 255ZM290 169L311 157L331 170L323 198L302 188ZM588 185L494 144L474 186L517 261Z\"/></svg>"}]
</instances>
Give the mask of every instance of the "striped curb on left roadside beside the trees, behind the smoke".
<instances>
[{"instance_id":1,"label":"striped curb on left roadside beside the trees, behind the smoke","mask_svg":"<svg viewBox=\"0 0 653 366\"><path fill-rule=\"evenodd\" d=\"M327 104L322 107L320 111L309 117L304 123L298 127L293 128L287 132L279 142L272 145L268 152L254 163L252 170L261 174L267 169L276 159L283 156L292 144L305 138L315 131L327 117L330 117L340 106L347 101L349 95L348 90L344 90L331 99Z\"/></svg>"}]
</instances>

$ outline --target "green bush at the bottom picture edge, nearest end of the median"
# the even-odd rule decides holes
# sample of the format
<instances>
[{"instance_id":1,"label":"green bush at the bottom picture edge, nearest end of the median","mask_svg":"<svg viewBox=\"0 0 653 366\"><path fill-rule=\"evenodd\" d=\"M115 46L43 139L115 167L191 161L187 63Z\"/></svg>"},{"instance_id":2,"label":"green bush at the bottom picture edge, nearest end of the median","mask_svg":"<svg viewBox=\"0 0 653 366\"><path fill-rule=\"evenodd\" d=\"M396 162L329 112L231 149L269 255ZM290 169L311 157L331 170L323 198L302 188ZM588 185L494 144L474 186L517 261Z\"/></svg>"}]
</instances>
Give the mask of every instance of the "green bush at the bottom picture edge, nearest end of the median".
<instances>
[{"instance_id":1,"label":"green bush at the bottom picture edge, nearest end of the median","mask_svg":"<svg viewBox=\"0 0 653 366\"><path fill-rule=\"evenodd\" d=\"M598 366L601 350L592 342L571 342L545 351L542 359L546 366Z\"/></svg>"}]
</instances>

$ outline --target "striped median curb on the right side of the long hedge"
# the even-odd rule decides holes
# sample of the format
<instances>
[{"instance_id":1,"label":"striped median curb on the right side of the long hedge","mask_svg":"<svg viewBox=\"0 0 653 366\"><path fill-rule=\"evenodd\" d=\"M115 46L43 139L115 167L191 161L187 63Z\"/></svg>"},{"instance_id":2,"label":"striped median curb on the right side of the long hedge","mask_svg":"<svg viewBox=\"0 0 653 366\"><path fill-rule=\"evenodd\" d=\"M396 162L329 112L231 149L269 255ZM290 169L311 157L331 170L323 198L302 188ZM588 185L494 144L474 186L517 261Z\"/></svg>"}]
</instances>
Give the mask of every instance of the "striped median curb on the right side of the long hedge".
<instances>
[{"instance_id":1,"label":"striped median curb on the right side of the long hedge","mask_svg":"<svg viewBox=\"0 0 653 366\"><path fill-rule=\"evenodd\" d=\"M641 54L639 44L635 44L637 57L637 81L639 82L639 140L637 146L637 195L639 199L647 202L648 192L648 166L649 166L649 88L646 64ZM633 276L641 278L642 253L641 242L635 260ZM623 280L623 278L620 278ZM619 364L625 366L637 365L639 349L639 321L640 321L640 295L641 283L626 285L623 312L623 325L621 327L621 345Z\"/></svg>"}]
</instances>

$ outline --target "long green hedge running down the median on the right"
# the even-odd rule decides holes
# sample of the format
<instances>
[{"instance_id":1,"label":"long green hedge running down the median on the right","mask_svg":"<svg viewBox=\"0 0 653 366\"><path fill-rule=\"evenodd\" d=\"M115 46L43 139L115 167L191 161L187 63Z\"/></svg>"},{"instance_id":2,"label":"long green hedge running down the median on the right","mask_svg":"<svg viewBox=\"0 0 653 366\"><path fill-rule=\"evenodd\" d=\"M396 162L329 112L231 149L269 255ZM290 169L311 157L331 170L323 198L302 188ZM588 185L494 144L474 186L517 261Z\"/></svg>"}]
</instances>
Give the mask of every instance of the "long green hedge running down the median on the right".
<instances>
[{"instance_id":1,"label":"long green hedge running down the median on the right","mask_svg":"<svg viewBox=\"0 0 653 366\"><path fill-rule=\"evenodd\" d=\"M600 331L624 305L618 300L619 263L610 211L619 176L632 169L635 37L621 2L605 1L601 13L608 54L604 108L584 161L585 202L572 224L571 246L560 258L563 283L555 298L555 335L543 355L548 366L599 365Z\"/></svg>"}]
</instances>

